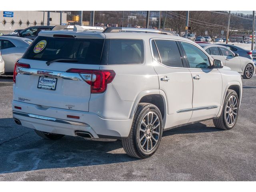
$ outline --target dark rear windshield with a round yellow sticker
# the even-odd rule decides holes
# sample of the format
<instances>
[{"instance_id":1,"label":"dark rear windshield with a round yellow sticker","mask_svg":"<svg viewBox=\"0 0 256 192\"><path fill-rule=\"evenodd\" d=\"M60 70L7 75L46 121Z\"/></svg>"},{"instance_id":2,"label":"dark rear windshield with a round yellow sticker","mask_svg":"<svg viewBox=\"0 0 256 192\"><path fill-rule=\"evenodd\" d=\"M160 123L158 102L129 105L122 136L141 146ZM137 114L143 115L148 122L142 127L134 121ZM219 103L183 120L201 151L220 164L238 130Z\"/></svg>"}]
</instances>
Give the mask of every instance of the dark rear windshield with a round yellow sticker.
<instances>
[{"instance_id":1,"label":"dark rear windshield with a round yellow sticker","mask_svg":"<svg viewBox=\"0 0 256 192\"><path fill-rule=\"evenodd\" d=\"M68 58L77 60L74 62L80 64L100 64L103 45L104 39L38 36L23 58L42 61Z\"/></svg>"}]
</instances>

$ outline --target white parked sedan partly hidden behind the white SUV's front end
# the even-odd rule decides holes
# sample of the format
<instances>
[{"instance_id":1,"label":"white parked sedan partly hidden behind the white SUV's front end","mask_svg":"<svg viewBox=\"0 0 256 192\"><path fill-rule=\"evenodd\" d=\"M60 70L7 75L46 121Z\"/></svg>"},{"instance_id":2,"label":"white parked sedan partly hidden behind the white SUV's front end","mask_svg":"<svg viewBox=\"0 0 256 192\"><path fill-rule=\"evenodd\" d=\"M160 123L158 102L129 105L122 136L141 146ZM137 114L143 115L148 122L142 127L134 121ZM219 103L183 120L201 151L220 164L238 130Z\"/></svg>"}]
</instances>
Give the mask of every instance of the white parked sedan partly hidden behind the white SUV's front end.
<instances>
[{"instance_id":1,"label":"white parked sedan partly hidden behind the white SUV's front end","mask_svg":"<svg viewBox=\"0 0 256 192\"><path fill-rule=\"evenodd\" d=\"M251 59L240 57L225 46L206 43L199 45L214 59L221 60L224 66L240 73L243 78L250 79L255 73L256 67Z\"/></svg>"}]
</instances>

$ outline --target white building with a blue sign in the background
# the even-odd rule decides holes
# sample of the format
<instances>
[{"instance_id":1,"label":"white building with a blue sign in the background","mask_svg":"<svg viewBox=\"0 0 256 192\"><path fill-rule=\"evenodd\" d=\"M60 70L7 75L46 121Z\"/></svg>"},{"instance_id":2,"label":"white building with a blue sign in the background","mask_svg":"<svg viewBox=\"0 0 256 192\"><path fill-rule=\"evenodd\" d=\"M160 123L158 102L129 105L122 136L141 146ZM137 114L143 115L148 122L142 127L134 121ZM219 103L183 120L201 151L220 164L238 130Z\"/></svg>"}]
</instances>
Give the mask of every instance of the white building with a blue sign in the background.
<instances>
[{"instance_id":1,"label":"white building with a blue sign in the background","mask_svg":"<svg viewBox=\"0 0 256 192\"><path fill-rule=\"evenodd\" d=\"M8 15L5 13L8 12ZM12 14L13 13L13 14ZM60 13L50 12L50 25L60 25ZM66 24L67 14L62 13L62 24ZM8 34L16 29L47 25L47 11L0 11L0 32Z\"/></svg>"}]
</instances>

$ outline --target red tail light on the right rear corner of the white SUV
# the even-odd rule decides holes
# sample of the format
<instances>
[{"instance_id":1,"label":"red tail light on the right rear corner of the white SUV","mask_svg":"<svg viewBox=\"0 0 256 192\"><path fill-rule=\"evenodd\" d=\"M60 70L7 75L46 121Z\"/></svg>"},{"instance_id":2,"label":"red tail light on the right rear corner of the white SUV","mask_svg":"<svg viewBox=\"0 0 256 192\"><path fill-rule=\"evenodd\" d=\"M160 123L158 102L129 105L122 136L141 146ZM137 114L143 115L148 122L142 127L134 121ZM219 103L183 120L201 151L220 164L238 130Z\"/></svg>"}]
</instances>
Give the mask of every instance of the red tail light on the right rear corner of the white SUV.
<instances>
[{"instance_id":1,"label":"red tail light on the right rear corner of the white SUV","mask_svg":"<svg viewBox=\"0 0 256 192\"><path fill-rule=\"evenodd\" d=\"M103 93L116 73L113 70L69 69L66 72L79 73L82 79L91 86L91 93Z\"/></svg>"}]
</instances>

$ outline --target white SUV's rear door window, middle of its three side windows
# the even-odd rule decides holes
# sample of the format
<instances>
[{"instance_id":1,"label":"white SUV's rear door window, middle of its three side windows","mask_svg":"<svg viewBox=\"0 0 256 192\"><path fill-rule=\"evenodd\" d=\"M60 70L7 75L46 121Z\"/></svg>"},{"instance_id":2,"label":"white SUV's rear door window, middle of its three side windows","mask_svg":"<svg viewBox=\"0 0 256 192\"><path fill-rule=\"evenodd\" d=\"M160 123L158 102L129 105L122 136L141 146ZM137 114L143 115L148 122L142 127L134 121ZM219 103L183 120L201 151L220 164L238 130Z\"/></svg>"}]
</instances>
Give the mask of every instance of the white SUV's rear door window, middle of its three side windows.
<instances>
[{"instance_id":1,"label":"white SUV's rear door window, middle of its three side windows","mask_svg":"<svg viewBox=\"0 0 256 192\"><path fill-rule=\"evenodd\" d=\"M183 67L176 41L154 40L160 54L160 62L169 67ZM153 50L154 51L154 50ZM155 55L155 53L154 53Z\"/></svg>"}]
</instances>

